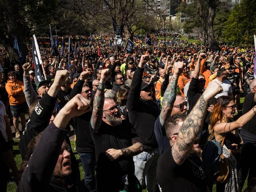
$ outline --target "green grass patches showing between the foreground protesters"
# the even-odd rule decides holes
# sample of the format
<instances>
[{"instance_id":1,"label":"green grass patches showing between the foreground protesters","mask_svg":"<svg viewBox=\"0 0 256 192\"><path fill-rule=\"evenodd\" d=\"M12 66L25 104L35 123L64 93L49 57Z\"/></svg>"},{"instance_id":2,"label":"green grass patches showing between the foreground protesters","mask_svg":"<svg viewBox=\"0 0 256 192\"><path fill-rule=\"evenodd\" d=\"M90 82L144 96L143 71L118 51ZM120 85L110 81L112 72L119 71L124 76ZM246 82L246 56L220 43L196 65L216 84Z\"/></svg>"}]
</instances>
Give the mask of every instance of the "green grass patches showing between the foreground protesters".
<instances>
[{"instance_id":1,"label":"green grass patches showing between the foreground protesters","mask_svg":"<svg viewBox=\"0 0 256 192\"><path fill-rule=\"evenodd\" d=\"M244 97L240 98L240 102L241 104L243 104L244 101ZM13 155L17 164L17 167L19 169L20 165L21 165L21 155L19 153L19 147L18 147L19 141L15 140L14 146L13 146ZM71 147L75 153L75 157L77 158L78 162L79 162L79 170L80 170L80 176L81 176L81 180L84 180L84 170L82 168L81 162L79 160L79 155L77 154L77 152L74 150L75 148L75 142L71 141ZM245 185L243 187L243 190L247 187L247 179L245 181ZM7 184L7 192L15 192L16 191L16 184L15 183L8 183ZM143 192L146 192L147 190L143 190ZM213 186L213 192L216 192L216 186Z\"/></svg>"}]
</instances>

